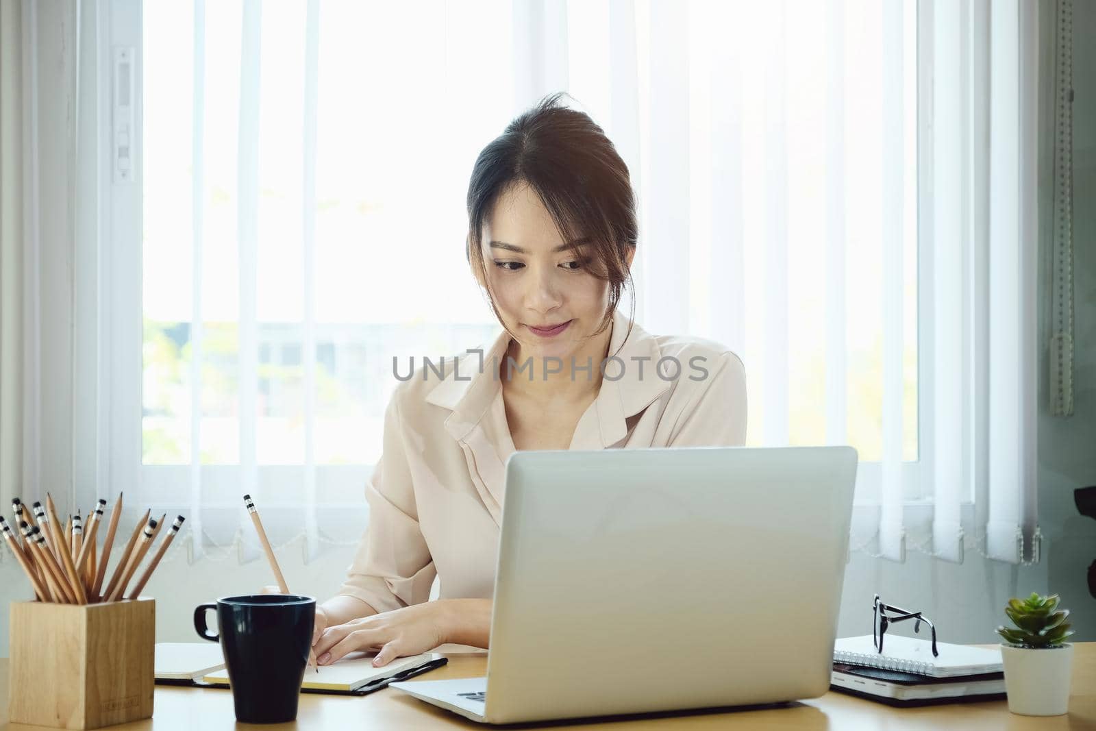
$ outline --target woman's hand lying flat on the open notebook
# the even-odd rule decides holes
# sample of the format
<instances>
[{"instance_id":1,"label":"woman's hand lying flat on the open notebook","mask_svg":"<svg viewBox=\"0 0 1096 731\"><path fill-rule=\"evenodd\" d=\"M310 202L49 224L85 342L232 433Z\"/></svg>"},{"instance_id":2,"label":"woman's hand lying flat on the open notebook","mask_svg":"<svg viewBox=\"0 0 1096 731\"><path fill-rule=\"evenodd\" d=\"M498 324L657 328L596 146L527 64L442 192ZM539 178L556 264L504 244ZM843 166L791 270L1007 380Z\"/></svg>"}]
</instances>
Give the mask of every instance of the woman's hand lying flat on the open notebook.
<instances>
[{"instance_id":1,"label":"woman's hand lying flat on the open notebook","mask_svg":"<svg viewBox=\"0 0 1096 731\"><path fill-rule=\"evenodd\" d=\"M330 665L356 650L377 650L375 667L387 665L396 658L433 650L447 641L449 613L445 601L414 604L383 614L351 619L343 625L327 627L312 648L321 665ZM317 627L320 625L317 609Z\"/></svg>"}]
</instances>

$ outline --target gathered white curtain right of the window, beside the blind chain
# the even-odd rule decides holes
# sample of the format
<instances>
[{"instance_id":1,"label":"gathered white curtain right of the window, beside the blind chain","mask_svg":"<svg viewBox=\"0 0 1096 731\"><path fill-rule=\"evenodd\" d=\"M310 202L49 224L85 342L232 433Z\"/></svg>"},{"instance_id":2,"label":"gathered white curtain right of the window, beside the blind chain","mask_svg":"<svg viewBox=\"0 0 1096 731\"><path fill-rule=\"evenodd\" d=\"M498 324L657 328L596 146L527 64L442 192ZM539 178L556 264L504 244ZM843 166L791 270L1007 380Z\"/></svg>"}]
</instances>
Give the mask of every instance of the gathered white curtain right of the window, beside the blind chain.
<instances>
[{"instance_id":1,"label":"gathered white curtain right of the window, beside the blind chain","mask_svg":"<svg viewBox=\"0 0 1096 731\"><path fill-rule=\"evenodd\" d=\"M931 226L922 233L923 244L931 243L922 292L933 302L925 323L935 390L932 546L950 560L962 560L969 523L962 510L971 499L970 542L980 553L1011 562L1038 558L1037 31L1029 4L922 8L922 48L933 68L933 112L923 119L932 132L922 153L922 216Z\"/></svg>"}]
</instances>

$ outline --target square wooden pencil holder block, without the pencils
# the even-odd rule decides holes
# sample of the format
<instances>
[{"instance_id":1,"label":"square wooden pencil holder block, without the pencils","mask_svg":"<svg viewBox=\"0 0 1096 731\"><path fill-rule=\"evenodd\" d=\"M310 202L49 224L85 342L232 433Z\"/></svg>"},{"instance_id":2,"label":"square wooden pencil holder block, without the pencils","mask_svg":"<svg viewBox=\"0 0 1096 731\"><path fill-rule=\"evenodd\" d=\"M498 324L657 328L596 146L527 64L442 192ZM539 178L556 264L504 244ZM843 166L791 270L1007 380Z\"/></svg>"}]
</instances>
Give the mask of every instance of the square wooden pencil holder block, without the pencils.
<instances>
[{"instance_id":1,"label":"square wooden pencil holder block, without the pencils","mask_svg":"<svg viewBox=\"0 0 1096 731\"><path fill-rule=\"evenodd\" d=\"M152 716L156 602L15 602L9 625L12 723L99 729Z\"/></svg>"}]
</instances>

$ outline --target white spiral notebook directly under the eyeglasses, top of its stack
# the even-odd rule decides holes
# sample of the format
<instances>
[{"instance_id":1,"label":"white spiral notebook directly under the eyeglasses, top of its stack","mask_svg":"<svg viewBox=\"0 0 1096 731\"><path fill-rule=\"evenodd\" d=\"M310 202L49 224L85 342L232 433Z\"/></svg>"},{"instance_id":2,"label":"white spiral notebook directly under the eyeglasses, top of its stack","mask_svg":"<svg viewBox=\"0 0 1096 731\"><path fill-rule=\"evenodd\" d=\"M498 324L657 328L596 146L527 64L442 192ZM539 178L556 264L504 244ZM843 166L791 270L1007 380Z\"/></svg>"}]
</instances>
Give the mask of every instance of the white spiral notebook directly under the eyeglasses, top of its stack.
<instances>
[{"instance_id":1,"label":"white spiral notebook directly under the eyeglasses, top of its stack","mask_svg":"<svg viewBox=\"0 0 1096 731\"><path fill-rule=\"evenodd\" d=\"M1001 650L973 648L966 644L937 642L938 656L933 655L928 640L887 635L883 652L876 650L870 635L846 637L833 647L834 662L847 665L865 665L883 670L899 670L931 677L956 677L959 675L983 675L1000 673Z\"/></svg>"}]
</instances>

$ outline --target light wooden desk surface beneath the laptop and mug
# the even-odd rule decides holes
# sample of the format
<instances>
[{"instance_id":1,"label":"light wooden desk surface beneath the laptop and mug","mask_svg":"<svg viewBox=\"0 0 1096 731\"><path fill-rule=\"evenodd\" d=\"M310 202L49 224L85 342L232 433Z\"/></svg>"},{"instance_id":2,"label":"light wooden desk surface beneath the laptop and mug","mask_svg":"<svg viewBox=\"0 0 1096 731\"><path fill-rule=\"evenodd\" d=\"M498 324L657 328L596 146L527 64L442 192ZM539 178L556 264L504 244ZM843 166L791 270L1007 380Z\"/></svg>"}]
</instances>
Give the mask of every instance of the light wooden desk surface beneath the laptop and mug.
<instances>
[{"instance_id":1,"label":"light wooden desk surface beneath the laptop and mug","mask_svg":"<svg viewBox=\"0 0 1096 731\"><path fill-rule=\"evenodd\" d=\"M449 664L424 675L423 679L475 677L487 670L483 653L446 653ZM612 718L601 722L561 722L569 731L579 729L886 729L887 731L961 729L1096 729L1096 642L1076 644L1073 667L1073 694L1070 713L1050 718L1013 716L1004 700L983 704L957 704L926 708L897 709L860 700L840 693L827 693L814 700L790 707L765 710L687 712ZM525 724L528 727L529 724ZM538 728L557 724L533 724ZM151 720L113 729L233 729L232 695L219 688L156 686L156 711ZM399 690L385 688L364 697L305 694L296 723L263 727L302 729L488 729L455 713L415 700ZM8 660L0 659L0 729L39 729L8 723ZM505 727L521 728L521 727Z\"/></svg>"}]
</instances>

